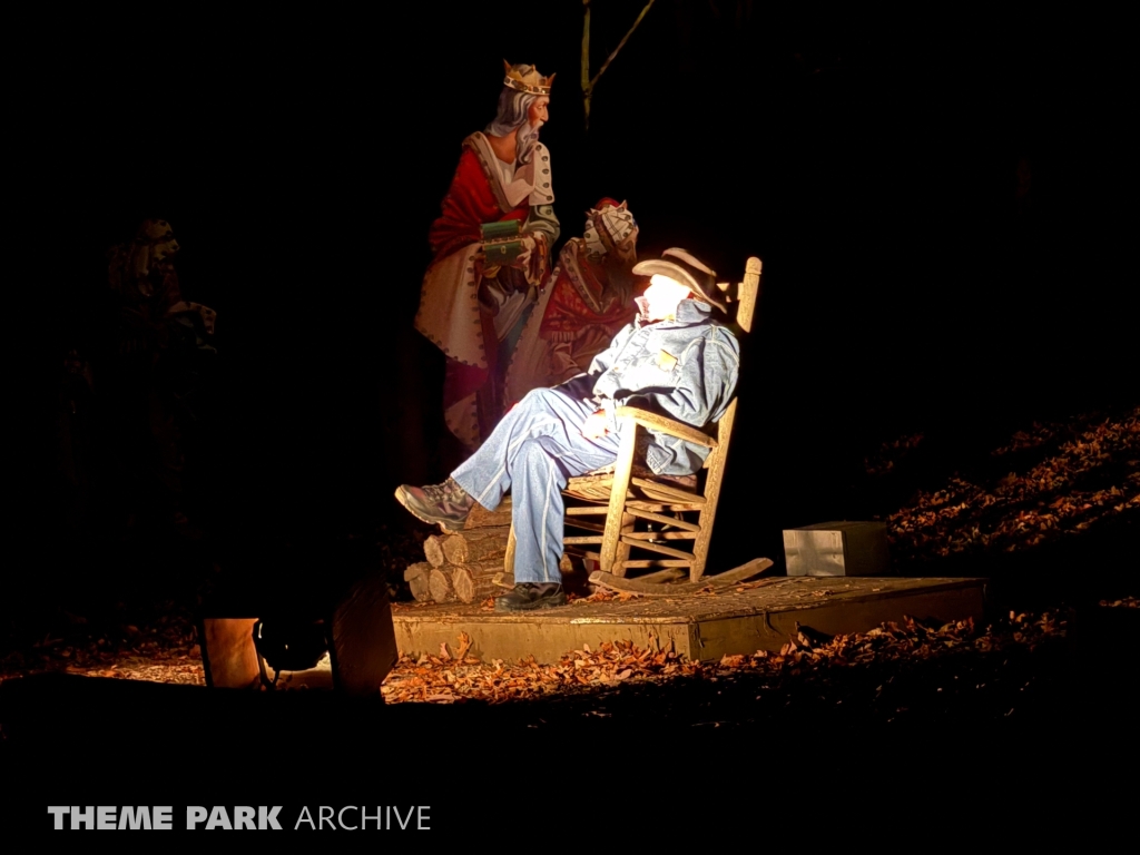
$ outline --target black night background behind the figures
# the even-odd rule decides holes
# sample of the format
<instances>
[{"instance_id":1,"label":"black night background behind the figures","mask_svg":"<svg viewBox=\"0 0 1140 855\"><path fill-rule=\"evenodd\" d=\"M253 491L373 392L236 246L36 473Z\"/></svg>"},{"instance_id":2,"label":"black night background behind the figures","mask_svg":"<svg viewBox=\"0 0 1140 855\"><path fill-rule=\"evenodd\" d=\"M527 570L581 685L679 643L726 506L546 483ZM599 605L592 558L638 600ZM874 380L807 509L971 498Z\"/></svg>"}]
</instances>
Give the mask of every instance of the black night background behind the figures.
<instances>
[{"instance_id":1,"label":"black night background behind the figures","mask_svg":"<svg viewBox=\"0 0 1140 855\"><path fill-rule=\"evenodd\" d=\"M594 10L593 71L640 9ZM448 463L441 363L410 327L427 228L502 59L531 62L557 73L563 237L613 196L642 256L686 246L734 279L764 259L727 519L777 553L782 528L868 512L878 442L967 448L1130 393L1116 30L659 0L587 133L577 2L36 22L9 81L17 287L43 301L24 353L54 376L106 249L168 219L185 296L218 311L197 518L262 543L386 519ZM51 382L28 414L49 523Z\"/></svg>"}]
</instances>

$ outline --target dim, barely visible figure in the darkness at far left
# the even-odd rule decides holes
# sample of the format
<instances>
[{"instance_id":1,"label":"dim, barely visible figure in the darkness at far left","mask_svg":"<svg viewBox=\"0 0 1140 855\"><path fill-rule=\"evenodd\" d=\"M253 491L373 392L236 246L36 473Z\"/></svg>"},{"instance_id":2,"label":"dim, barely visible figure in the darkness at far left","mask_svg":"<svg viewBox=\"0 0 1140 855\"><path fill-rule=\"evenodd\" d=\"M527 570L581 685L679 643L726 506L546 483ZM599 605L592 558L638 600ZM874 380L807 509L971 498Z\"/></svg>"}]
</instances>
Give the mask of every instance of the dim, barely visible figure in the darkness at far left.
<instances>
[{"instance_id":1,"label":"dim, barely visible figure in the darkness at far left","mask_svg":"<svg viewBox=\"0 0 1140 855\"><path fill-rule=\"evenodd\" d=\"M150 515L197 534L184 502L185 438L215 315L182 299L178 250L165 220L112 247L103 311L64 359L59 470L73 529L109 513L101 521L113 527Z\"/></svg>"}]
</instances>

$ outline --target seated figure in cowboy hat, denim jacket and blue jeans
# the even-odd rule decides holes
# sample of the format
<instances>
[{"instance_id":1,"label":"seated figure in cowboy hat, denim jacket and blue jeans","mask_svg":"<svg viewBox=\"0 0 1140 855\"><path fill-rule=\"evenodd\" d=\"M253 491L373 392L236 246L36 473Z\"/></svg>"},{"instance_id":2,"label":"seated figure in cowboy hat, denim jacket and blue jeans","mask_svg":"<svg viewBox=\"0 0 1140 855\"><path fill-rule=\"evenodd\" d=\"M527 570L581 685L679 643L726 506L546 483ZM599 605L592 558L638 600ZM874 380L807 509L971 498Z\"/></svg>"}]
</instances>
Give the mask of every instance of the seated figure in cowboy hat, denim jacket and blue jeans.
<instances>
[{"instance_id":1,"label":"seated figure in cowboy hat, denim jacket and blue jeans","mask_svg":"<svg viewBox=\"0 0 1140 855\"><path fill-rule=\"evenodd\" d=\"M514 588L496 611L563 605L562 489L568 479L612 464L616 410L635 406L701 429L724 415L740 372L740 344L714 318L716 275L689 252L666 250L635 274L651 276L638 316L598 353L589 370L536 389L441 484L401 484L396 498L421 520L458 530L478 502L494 510L508 490L515 534ZM633 430L622 427L621 430ZM697 472L708 449L653 434L645 463L665 475Z\"/></svg>"}]
</instances>

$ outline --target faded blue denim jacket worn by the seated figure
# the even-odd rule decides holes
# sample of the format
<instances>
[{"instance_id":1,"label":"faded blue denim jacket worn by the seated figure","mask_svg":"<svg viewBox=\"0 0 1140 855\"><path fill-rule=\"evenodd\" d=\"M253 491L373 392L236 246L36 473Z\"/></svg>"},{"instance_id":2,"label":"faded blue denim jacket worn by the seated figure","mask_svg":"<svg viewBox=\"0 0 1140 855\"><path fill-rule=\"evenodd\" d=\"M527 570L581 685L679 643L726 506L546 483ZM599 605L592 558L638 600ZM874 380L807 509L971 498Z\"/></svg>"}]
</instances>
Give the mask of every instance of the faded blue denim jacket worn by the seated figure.
<instances>
[{"instance_id":1,"label":"faded blue denim jacket worn by the seated figure","mask_svg":"<svg viewBox=\"0 0 1140 855\"><path fill-rule=\"evenodd\" d=\"M703 429L724 415L740 376L740 343L711 312L706 302L682 300L675 320L648 324L636 318L594 357L586 374L563 389L604 408L611 431L617 430L614 410L622 406ZM650 433L645 462L658 474L692 474L708 457L703 446Z\"/></svg>"}]
</instances>

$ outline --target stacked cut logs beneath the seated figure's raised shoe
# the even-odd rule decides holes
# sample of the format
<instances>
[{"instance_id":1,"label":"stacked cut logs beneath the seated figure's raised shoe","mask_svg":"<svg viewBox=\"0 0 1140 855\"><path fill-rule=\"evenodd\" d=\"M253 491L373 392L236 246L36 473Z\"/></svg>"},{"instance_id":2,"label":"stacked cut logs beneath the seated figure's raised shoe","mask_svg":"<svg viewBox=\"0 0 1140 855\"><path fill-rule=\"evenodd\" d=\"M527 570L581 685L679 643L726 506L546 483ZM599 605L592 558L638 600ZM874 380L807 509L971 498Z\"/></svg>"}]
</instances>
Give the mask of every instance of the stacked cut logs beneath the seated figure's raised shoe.
<instances>
[{"instance_id":1,"label":"stacked cut logs beneath the seated figure's raised shoe","mask_svg":"<svg viewBox=\"0 0 1140 855\"><path fill-rule=\"evenodd\" d=\"M462 531L440 532L424 542L425 561L404 571L421 603L475 603L503 591L503 560L511 535L511 504L505 499L495 511L479 505Z\"/></svg>"}]
</instances>

